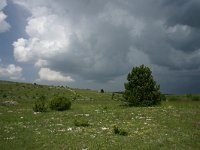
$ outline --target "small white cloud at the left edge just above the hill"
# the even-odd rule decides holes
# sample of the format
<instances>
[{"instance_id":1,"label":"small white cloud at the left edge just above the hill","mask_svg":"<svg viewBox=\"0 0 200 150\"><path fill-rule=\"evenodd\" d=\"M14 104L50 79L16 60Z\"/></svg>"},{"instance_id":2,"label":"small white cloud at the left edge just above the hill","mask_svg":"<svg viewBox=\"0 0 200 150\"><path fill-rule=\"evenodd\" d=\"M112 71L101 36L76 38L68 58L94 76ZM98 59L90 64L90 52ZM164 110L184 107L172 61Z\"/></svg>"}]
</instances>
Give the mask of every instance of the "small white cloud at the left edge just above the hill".
<instances>
[{"instance_id":1,"label":"small white cloud at the left edge just above the hill","mask_svg":"<svg viewBox=\"0 0 200 150\"><path fill-rule=\"evenodd\" d=\"M0 66L0 77L7 77L9 79L17 80L22 79L22 68L10 64L6 67Z\"/></svg>"}]
</instances>

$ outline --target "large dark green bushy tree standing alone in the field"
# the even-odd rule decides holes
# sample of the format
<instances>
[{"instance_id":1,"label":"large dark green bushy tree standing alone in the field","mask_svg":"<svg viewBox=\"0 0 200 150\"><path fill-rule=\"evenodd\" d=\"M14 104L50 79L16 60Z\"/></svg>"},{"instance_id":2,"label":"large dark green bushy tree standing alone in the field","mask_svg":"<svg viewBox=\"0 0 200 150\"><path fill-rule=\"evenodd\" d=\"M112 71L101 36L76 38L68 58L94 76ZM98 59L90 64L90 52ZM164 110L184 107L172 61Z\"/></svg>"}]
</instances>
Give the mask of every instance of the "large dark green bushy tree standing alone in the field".
<instances>
[{"instance_id":1,"label":"large dark green bushy tree standing alone in the field","mask_svg":"<svg viewBox=\"0 0 200 150\"><path fill-rule=\"evenodd\" d=\"M153 79L150 68L133 67L124 84L124 99L130 106L153 106L161 102L160 86Z\"/></svg>"}]
</instances>

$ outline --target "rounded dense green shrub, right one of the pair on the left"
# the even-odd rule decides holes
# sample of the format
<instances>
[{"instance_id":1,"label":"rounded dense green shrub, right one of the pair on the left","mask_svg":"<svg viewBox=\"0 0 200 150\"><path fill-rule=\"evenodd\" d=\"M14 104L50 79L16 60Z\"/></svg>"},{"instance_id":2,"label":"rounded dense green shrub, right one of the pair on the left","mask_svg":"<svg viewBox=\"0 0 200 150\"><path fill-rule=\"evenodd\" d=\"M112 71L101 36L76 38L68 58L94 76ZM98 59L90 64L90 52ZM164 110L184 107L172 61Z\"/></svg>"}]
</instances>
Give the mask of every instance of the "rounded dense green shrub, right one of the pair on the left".
<instances>
[{"instance_id":1,"label":"rounded dense green shrub, right one of the pair on the left","mask_svg":"<svg viewBox=\"0 0 200 150\"><path fill-rule=\"evenodd\" d=\"M56 96L50 101L49 107L58 111L68 110L71 107L71 101L64 96Z\"/></svg>"}]
</instances>

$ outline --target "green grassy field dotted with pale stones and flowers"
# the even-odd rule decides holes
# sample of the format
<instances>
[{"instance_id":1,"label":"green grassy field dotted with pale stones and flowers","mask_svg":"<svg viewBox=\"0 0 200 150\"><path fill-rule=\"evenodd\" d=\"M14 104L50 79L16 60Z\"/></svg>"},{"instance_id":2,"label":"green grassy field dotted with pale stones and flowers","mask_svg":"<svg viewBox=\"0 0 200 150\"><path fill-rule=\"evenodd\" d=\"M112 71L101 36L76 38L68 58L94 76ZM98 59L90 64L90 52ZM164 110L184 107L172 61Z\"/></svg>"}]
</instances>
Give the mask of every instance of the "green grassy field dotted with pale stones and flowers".
<instances>
[{"instance_id":1,"label":"green grassy field dotted with pale stones and flowers","mask_svg":"<svg viewBox=\"0 0 200 150\"><path fill-rule=\"evenodd\" d=\"M41 95L66 96L72 107L36 113L33 104ZM191 97L168 95L161 106L127 107L117 93L112 98L107 92L0 81L0 149L198 150L200 96ZM114 126L127 135L115 134Z\"/></svg>"}]
</instances>

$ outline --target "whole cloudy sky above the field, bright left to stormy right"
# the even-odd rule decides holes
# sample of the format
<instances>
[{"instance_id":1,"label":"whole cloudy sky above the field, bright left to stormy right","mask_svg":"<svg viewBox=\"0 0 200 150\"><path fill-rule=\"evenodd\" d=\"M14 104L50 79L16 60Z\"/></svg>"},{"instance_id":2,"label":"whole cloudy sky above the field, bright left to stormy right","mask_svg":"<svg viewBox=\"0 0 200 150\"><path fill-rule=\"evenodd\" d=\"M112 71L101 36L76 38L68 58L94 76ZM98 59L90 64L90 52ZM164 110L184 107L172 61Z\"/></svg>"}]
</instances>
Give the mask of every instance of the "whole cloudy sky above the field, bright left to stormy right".
<instances>
[{"instance_id":1,"label":"whole cloudy sky above the field, bright left to stormy right","mask_svg":"<svg viewBox=\"0 0 200 150\"><path fill-rule=\"evenodd\" d=\"M124 90L145 64L200 93L199 0L0 0L0 80Z\"/></svg>"}]
</instances>

